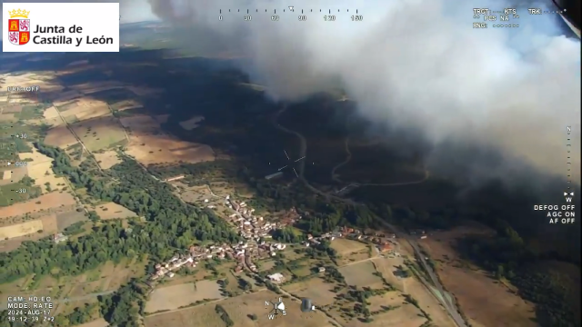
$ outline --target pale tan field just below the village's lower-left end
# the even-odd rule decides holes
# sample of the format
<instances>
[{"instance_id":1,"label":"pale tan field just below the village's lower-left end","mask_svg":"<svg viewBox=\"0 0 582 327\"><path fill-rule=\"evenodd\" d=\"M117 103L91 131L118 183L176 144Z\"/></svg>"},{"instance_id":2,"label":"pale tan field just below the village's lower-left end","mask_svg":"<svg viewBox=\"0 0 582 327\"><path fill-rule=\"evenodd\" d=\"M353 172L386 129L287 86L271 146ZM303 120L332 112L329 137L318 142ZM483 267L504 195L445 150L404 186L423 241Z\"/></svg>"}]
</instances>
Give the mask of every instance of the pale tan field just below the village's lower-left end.
<instances>
[{"instance_id":1,"label":"pale tan field just below the village's lower-left end","mask_svg":"<svg viewBox=\"0 0 582 327\"><path fill-rule=\"evenodd\" d=\"M216 281L198 281L173 286L159 287L151 293L146 303L146 312L176 310L197 301L222 298L220 285Z\"/></svg>"}]
</instances>

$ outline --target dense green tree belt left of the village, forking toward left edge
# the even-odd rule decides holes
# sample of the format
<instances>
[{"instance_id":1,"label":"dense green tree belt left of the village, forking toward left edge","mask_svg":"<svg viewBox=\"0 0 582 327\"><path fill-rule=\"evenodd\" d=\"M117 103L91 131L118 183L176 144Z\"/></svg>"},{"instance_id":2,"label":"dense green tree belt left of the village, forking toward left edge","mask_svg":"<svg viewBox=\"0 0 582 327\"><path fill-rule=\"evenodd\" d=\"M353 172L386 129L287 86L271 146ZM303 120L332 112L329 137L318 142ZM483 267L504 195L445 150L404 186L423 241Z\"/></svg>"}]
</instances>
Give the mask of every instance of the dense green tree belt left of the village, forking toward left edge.
<instances>
[{"instance_id":1,"label":"dense green tree belt left of the village, forking toward left edge","mask_svg":"<svg viewBox=\"0 0 582 327\"><path fill-rule=\"evenodd\" d=\"M224 220L208 210L181 203L171 189L147 176L132 162L112 169L117 183L90 176L69 162L66 154L45 144L37 149L54 159L55 173L66 175L77 187L103 201L124 205L146 223L131 222L125 229L119 222L100 223L89 233L67 243L48 239L25 242L10 253L0 253L0 281L11 282L29 273L71 275L96 268L106 261L148 254L155 260L171 257L176 248L184 249L196 241L235 242L239 236Z\"/></svg>"}]
</instances>

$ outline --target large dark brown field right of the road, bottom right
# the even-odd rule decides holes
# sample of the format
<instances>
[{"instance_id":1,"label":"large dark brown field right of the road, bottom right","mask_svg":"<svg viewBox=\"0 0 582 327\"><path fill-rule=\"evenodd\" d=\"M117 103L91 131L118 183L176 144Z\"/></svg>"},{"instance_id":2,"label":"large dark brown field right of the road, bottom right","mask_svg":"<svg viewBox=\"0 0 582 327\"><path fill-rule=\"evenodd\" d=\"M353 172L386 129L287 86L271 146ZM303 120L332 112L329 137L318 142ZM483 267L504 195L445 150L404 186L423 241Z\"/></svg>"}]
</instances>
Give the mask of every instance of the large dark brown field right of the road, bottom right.
<instances>
[{"instance_id":1,"label":"large dark brown field right of the road, bottom right","mask_svg":"<svg viewBox=\"0 0 582 327\"><path fill-rule=\"evenodd\" d=\"M486 228L459 227L437 232L422 240L421 246L437 262L443 286L455 294L459 308L475 326L536 326L534 305L510 292L490 274L464 262L454 249L456 240L469 234L487 234ZM495 299L487 301L484 299Z\"/></svg>"}]
</instances>

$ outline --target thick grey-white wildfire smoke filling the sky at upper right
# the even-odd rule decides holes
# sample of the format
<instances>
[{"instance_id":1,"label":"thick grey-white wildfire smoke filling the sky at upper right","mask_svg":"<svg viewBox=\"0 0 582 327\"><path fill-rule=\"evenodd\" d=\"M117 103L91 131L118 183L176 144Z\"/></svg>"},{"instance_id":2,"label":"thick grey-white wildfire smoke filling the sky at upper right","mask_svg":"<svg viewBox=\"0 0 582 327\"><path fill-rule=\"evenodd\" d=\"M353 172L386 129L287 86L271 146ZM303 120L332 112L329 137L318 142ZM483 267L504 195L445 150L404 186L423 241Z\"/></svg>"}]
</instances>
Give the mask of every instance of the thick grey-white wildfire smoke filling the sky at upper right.
<instances>
[{"instance_id":1,"label":"thick grey-white wildfire smoke filling the sky at upper right","mask_svg":"<svg viewBox=\"0 0 582 327\"><path fill-rule=\"evenodd\" d=\"M527 7L551 10L547 2L519 2L520 17L509 22L518 28L487 29L472 28L475 4L458 3L122 0L121 15L124 22L157 17L179 27L185 42L185 28L213 33L249 59L241 68L275 100L299 101L341 81L359 114L386 126L386 140L397 147L401 138L418 138L426 162L442 173L463 172L474 183L528 181L532 173L566 179L568 125L580 148L579 40L565 35L556 14L527 15ZM288 5L295 13L281 13ZM248 8L253 20L219 19L228 8ZM299 21L301 8L316 13ZM320 8L341 12L326 22ZM278 9L279 21L255 9ZM356 9L361 22L350 19ZM579 154L571 162L579 181Z\"/></svg>"}]
</instances>

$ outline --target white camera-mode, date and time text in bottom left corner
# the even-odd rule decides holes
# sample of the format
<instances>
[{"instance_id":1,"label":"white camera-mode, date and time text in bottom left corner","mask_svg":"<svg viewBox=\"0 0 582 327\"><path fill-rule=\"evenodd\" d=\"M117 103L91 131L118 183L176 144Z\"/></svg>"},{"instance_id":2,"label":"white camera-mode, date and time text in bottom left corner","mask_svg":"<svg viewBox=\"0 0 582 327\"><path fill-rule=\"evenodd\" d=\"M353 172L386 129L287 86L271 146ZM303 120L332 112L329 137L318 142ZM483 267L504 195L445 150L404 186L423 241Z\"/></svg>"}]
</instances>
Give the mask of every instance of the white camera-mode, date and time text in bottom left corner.
<instances>
[{"instance_id":1,"label":"white camera-mode, date and time text in bottom left corner","mask_svg":"<svg viewBox=\"0 0 582 327\"><path fill-rule=\"evenodd\" d=\"M5 296L8 322L54 322L55 302L50 296L8 295Z\"/></svg>"}]
</instances>

